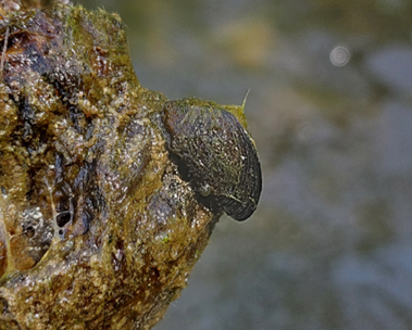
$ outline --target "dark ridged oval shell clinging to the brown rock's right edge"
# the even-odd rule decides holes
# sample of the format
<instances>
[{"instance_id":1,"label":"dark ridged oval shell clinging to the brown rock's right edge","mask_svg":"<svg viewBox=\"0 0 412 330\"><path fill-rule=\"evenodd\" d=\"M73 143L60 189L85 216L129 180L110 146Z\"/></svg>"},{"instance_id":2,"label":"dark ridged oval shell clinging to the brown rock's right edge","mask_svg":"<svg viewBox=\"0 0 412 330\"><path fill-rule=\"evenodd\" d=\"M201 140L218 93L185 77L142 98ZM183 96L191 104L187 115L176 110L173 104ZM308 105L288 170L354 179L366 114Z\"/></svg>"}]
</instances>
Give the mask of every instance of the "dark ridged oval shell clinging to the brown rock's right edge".
<instances>
[{"instance_id":1,"label":"dark ridged oval shell clinging to the brown rock's right edge","mask_svg":"<svg viewBox=\"0 0 412 330\"><path fill-rule=\"evenodd\" d=\"M236 116L190 98L167 102L163 123L168 150L185 165L193 189L234 219L250 217L262 174L253 140Z\"/></svg>"}]
</instances>

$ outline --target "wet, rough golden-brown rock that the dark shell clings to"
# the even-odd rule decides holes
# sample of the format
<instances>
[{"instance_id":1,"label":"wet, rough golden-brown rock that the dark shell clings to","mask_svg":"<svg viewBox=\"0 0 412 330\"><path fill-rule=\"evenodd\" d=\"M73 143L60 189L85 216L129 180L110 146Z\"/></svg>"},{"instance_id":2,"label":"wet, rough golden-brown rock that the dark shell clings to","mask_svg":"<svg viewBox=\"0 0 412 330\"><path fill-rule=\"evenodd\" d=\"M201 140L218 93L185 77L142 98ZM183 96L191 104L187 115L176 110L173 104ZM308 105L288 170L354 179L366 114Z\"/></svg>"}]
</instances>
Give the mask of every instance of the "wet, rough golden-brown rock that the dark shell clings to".
<instances>
[{"instance_id":1,"label":"wet, rough golden-brown rock that the dark shell clings to","mask_svg":"<svg viewBox=\"0 0 412 330\"><path fill-rule=\"evenodd\" d=\"M175 153L168 100L140 86L117 15L0 4L0 329L149 329L185 288L228 200L237 213L248 203L239 219L254 211L253 141L211 111L199 114L209 126L185 124L208 141L207 156ZM233 172L198 183L199 160L214 176L234 166L215 157L225 141L250 186Z\"/></svg>"}]
</instances>

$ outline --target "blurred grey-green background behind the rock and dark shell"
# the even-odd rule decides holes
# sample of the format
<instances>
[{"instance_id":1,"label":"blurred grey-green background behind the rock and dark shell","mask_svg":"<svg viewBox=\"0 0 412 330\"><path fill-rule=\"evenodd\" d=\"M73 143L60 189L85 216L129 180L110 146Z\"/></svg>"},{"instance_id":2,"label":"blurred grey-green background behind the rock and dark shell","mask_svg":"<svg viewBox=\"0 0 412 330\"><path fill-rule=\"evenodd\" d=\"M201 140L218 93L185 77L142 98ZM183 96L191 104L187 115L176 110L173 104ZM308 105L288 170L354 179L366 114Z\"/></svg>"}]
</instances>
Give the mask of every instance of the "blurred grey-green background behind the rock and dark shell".
<instances>
[{"instance_id":1,"label":"blurred grey-green background behind the rock and dark shell","mask_svg":"<svg viewBox=\"0 0 412 330\"><path fill-rule=\"evenodd\" d=\"M246 103L263 193L155 330L412 329L412 2L86 1L142 86Z\"/></svg>"}]
</instances>

